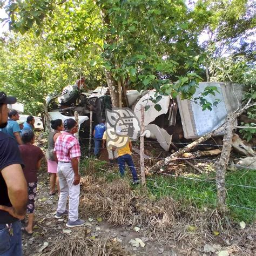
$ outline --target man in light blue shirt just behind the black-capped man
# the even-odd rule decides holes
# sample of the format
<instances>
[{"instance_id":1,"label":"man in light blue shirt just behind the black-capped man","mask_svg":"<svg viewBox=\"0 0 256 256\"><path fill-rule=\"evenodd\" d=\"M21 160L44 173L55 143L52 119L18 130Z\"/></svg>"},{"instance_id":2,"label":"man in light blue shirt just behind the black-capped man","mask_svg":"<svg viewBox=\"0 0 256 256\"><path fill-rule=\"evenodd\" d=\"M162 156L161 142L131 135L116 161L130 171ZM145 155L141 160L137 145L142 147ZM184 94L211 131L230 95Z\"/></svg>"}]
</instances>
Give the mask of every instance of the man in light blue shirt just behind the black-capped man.
<instances>
[{"instance_id":1,"label":"man in light blue shirt just behind the black-capped man","mask_svg":"<svg viewBox=\"0 0 256 256\"><path fill-rule=\"evenodd\" d=\"M19 119L19 114L16 110L10 110L8 113L9 119L8 124L3 129L0 129L1 132L9 134L12 138L14 138L19 145L22 145L21 140L21 129L17 123Z\"/></svg>"}]
</instances>

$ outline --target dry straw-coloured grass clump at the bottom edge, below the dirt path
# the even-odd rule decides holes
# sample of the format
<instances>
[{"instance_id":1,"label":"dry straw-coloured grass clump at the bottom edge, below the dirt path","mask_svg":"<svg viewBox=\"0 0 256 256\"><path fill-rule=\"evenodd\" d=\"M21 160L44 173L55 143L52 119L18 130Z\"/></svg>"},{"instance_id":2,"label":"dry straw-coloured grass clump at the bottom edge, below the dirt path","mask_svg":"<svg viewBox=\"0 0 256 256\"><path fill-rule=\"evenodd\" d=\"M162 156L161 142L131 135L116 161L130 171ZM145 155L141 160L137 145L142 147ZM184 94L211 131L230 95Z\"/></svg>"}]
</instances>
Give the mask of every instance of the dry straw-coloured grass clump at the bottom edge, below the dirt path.
<instances>
[{"instance_id":1,"label":"dry straw-coloured grass clump at the bottom edge, below the dirt path","mask_svg":"<svg viewBox=\"0 0 256 256\"><path fill-rule=\"evenodd\" d=\"M90 239L86 235L86 230L80 228L75 236L71 235L68 239L58 238L44 255L129 255L118 242L110 239Z\"/></svg>"}]
</instances>

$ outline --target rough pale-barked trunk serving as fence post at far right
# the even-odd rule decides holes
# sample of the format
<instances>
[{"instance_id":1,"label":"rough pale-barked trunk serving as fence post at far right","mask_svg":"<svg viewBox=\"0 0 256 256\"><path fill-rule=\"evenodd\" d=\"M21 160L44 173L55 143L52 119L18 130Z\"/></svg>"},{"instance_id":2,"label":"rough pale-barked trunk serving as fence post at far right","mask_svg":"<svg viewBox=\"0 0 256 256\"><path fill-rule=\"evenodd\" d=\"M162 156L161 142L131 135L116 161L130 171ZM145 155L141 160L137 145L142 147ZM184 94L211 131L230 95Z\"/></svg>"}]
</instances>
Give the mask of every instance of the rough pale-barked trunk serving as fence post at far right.
<instances>
[{"instance_id":1,"label":"rough pale-barked trunk serving as fence post at far right","mask_svg":"<svg viewBox=\"0 0 256 256\"><path fill-rule=\"evenodd\" d=\"M236 116L234 113L227 115L223 138L223 150L216 164L217 209L221 214L225 214L226 210L225 172L227 169L228 160L230 159L235 118Z\"/></svg>"}]
</instances>

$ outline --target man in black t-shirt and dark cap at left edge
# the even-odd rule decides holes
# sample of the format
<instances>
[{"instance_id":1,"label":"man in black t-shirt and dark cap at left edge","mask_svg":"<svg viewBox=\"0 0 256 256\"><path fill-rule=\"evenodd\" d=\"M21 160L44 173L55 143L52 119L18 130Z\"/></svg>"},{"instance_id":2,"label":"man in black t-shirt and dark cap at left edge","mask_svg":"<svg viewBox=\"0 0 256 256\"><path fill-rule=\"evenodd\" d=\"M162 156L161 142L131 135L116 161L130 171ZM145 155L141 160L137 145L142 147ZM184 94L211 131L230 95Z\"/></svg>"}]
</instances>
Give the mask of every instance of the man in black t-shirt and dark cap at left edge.
<instances>
[{"instance_id":1,"label":"man in black t-shirt and dark cap at left edge","mask_svg":"<svg viewBox=\"0 0 256 256\"><path fill-rule=\"evenodd\" d=\"M0 92L0 128L7 125L7 104L15 97ZM21 223L26 212L28 191L22 160L14 138L0 132L0 255L22 255Z\"/></svg>"}]
</instances>

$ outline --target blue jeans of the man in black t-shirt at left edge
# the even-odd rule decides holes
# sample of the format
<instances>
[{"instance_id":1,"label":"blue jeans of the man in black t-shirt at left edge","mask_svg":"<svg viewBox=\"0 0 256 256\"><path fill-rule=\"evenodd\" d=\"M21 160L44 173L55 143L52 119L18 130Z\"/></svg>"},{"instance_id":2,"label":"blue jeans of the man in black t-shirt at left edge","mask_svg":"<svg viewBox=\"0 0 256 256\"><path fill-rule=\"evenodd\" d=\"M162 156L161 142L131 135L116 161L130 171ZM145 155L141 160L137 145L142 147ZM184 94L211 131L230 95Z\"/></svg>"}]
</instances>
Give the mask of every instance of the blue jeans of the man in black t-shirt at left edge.
<instances>
[{"instance_id":1,"label":"blue jeans of the man in black t-shirt at left edge","mask_svg":"<svg viewBox=\"0 0 256 256\"><path fill-rule=\"evenodd\" d=\"M0 255L21 256L23 255L21 221L15 221L11 224L11 227L13 235L10 234L9 227L6 227L6 224L0 224Z\"/></svg>"}]
</instances>

